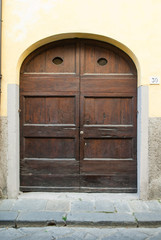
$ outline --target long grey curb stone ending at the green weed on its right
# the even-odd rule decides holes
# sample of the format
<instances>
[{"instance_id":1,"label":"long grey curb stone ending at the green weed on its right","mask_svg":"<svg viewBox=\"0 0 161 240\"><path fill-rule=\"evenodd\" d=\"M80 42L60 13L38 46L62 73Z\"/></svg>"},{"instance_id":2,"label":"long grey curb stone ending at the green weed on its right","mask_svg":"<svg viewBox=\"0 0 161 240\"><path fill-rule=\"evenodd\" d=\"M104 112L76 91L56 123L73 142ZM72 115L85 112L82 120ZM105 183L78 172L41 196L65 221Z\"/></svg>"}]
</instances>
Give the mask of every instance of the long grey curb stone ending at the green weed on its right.
<instances>
[{"instance_id":1,"label":"long grey curb stone ending at the green weed on its right","mask_svg":"<svg viewBox=\"0 0 161 240\"><path fill-rule=\"evenodd\" d=\"M17 226L64 224L64 212L21 212L16 220Z\"/></svg>"}]
</instances>

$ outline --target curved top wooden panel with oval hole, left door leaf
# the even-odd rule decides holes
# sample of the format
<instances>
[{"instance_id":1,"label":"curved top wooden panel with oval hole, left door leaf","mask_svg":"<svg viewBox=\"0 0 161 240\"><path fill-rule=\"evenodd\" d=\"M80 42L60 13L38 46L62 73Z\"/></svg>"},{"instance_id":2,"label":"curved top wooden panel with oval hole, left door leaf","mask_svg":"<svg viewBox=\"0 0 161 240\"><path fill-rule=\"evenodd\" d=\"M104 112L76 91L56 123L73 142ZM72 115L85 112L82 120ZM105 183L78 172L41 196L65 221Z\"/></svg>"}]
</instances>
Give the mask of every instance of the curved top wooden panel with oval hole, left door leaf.
<instances>
[{"instance_id":1,"label":"curved top wooden panel with oval hole, left door leaf","mask_svg":"<svg viewBox=\"0 0 161 240\"><path fill-rule=\"evenodd\" d=\"M60 43L58 45L52 43L38 49L35 54L29 55L21 71L24 73L75 74L77 71L75 64L77 43L71 42L66 41L65 45L63 43L61 45Z\"/></svg>"}]
</instances>

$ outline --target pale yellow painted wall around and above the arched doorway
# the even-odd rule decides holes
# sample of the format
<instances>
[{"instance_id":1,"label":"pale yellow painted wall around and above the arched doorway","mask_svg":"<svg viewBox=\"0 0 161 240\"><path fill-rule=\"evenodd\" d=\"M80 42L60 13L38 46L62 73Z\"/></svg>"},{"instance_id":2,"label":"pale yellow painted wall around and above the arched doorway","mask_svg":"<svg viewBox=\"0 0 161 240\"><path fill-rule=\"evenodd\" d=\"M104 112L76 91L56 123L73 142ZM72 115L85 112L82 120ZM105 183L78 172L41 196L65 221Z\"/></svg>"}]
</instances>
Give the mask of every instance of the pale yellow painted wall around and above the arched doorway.
<instances>
[{"instance_id":1,"label":"pale yellow painted wall around and above the arched doorway","mask_svg":"<svg viewBox=\"0 0 161 240\"><path fill-rule=\"evenodd\" d=\"M24 58L38 46L69 37L108 41L138 69L138 86L161 78L161 0L3 0L1 115L7 84L19 84ZM149 86L149 116L161 117L161 84Z\"/></svg>"}]
</instances>

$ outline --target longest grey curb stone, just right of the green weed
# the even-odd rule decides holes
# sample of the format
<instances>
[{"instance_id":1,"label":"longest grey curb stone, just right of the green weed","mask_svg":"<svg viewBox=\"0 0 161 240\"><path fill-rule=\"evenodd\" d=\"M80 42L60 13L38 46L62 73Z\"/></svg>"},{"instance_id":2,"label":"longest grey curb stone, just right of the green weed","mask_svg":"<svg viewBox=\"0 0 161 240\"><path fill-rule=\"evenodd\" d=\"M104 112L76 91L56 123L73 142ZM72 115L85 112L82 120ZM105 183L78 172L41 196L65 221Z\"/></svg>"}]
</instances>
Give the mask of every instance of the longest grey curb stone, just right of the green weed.
<instances>
[{"instance_id":1,"label":"longest grey curb stone, just right of the green weed","mask_svg":"<svg viewBox=\"0 0 161 240\"><path fill-rule=\"evenodd\" d=\"M70 213L67 225L105 225L105 226L136 226L133 215L128 213Z\"/></svg>"}]
</instances>

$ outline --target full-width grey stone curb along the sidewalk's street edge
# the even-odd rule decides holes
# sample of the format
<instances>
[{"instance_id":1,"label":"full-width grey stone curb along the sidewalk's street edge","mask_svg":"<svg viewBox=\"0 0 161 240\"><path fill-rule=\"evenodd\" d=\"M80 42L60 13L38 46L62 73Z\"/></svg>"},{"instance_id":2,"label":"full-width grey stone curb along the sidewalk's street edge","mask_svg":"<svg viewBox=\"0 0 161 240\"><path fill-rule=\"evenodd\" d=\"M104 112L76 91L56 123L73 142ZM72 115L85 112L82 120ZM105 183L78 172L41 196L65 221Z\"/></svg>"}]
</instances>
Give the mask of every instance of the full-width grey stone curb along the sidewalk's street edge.
<instances>
[{"instance_id":1,"label":"full-width grey stone curb along the sidewalk's street edge","mask_svg":"<svg viewBox=\"0 0 161 240\"><path fill-rule=\"evenodd\" d=\"M158 213L3 212L0 227L161 227Z\"/></svg>"}]
</instances>

